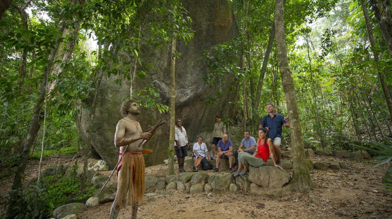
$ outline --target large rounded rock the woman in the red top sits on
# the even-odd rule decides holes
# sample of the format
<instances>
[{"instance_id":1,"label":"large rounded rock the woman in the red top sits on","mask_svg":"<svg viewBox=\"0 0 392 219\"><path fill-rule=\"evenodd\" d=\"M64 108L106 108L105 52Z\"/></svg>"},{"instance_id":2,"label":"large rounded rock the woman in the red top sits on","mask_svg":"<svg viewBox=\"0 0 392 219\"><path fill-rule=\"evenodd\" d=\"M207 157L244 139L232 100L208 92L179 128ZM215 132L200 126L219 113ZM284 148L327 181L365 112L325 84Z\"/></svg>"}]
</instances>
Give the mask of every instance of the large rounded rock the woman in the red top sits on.
<instances>
[{"instance_id":1,"label":"large rounded rock the woman in the red top sits on","mask_svg":"<svg viewBox=\"0 0 392 219\"><path fill-rule=\"evenodd\" d=\"M266 188L281 188L290 180L290 174L275 166L249 166L249 181Z\"/></svg>"}]
</instances>

